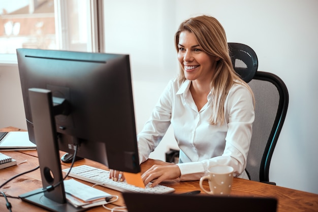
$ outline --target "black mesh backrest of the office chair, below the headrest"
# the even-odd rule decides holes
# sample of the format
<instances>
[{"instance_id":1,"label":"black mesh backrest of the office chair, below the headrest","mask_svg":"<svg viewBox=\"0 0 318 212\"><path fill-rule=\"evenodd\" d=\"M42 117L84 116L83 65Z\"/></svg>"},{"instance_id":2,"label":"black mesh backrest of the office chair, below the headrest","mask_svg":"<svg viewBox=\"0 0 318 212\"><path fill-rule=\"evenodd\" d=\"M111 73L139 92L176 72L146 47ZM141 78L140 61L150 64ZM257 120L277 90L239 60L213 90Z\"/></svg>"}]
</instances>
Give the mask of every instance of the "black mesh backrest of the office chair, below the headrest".
<instances>
[{"instance_id":1,"label":"black mesh backrest of the office chair, below the headrest","mask_svg":"<svg viewBox=\"0 0 318 212\"><path fill-rule=\"evenodd\" d=\"M257 72L248 84L255 96L255 121L246 170L251 180L269 182L270 162L287 114L288 89L267 72Z\"/></svg>"}]
</instances>

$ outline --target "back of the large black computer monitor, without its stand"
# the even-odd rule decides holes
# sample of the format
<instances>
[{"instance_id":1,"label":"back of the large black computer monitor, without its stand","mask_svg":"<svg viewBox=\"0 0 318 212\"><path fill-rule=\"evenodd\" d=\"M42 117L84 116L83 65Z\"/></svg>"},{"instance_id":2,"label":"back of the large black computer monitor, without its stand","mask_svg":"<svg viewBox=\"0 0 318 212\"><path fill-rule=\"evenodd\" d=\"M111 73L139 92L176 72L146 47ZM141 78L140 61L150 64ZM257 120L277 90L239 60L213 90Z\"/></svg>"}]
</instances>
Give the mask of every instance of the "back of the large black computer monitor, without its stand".
<instances>
[{"instance_id":1,"label":"back of the large black computer monitor, without its stand","mask_svg":"<svg viewBox=\"0 0 318 212\"><path fill-rule=\"evenodd\" d=\"M29 89L46 89L68 105L54 115L59 150L79 143L79 157L140 172L129 55L17 49L17 57L31 142L46 141L34 135Z\"/></svg>"}]
</instances>

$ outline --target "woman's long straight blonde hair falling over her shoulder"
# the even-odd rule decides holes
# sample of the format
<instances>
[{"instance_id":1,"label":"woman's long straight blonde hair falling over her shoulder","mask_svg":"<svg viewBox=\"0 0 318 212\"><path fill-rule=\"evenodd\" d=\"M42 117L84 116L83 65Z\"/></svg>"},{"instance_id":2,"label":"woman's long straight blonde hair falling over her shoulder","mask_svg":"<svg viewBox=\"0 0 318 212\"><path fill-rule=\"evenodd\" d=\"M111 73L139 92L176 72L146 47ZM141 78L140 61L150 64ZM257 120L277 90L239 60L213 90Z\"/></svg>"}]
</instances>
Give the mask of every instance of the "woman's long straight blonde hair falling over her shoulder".
<instances>
[{"instance_id":1,"label":"woman's long straight blonde hair falling over her shoulder","mask_svg":"<svg viewBox=\"0 0 318 212\"><path fill-rule=\"evenodd\" d=\"M226 33L222 25L213 17L203 15L189 18L182 22L175 34L175 47L179 51L179 36L182 31L194 33L199 45L208 55L219 57L216 62L215 73L211 79L211 91L213 92L212 115L209 122L212 125L224 124L224 104L229 90L234 83L245 85L251 95L250 87L235 72L229 54ZM183 68L180 65L179 80L184 81Z\"/></svg>"}]
</instances>

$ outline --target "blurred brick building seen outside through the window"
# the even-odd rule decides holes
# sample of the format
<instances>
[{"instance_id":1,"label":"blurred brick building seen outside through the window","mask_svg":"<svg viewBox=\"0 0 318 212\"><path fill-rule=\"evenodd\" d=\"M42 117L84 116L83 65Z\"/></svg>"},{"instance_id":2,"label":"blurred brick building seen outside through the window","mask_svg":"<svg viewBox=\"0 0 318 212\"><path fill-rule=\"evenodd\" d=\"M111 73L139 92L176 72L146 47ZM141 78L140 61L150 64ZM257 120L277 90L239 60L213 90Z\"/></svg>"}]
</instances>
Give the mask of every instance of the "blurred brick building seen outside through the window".
<instances>
[{"instance_id":1,"label":"blurred brick building seen outside through the window","mask_svg":"<svg viewBox=\"0 0 318 212\"><path fill-rule=\"evenodd\" d=\"M0 53L14 54L17 48L56 49L54 0L20 2L24 4L2 8Z\"/></svg>"}]
</instances>

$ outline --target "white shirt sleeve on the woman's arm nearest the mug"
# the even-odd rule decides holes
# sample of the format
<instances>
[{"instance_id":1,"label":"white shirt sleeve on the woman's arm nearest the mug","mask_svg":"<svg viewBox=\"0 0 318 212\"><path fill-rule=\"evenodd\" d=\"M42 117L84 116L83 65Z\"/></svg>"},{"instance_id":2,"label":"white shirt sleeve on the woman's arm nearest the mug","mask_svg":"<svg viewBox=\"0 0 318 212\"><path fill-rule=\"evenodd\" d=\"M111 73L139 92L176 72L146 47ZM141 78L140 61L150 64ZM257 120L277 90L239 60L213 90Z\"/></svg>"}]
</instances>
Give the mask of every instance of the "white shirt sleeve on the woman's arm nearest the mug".
<instances>
[{"instance_id":1,"label":"white shirt sleeve on the woman's arm nearest the mug","mask_svg":"<svg viewBox=\"0 0 318 212\"><path fill-rule=\"evenodd\" d=\"M208 173L209 167L215 165L232 166L234 176L248 179L245 167L254 118L253 99L249 90L243 85L234 85L225 102L228 131L223 154L198 162L179 163L180 180L198 180Z\"/></svg>"}]
</instances>

